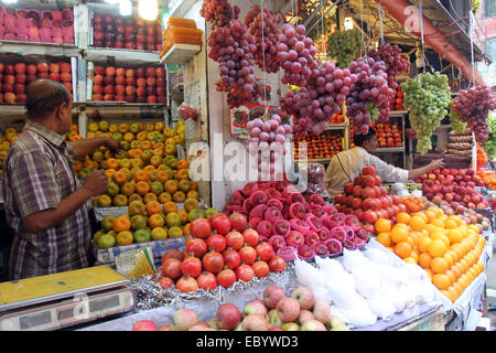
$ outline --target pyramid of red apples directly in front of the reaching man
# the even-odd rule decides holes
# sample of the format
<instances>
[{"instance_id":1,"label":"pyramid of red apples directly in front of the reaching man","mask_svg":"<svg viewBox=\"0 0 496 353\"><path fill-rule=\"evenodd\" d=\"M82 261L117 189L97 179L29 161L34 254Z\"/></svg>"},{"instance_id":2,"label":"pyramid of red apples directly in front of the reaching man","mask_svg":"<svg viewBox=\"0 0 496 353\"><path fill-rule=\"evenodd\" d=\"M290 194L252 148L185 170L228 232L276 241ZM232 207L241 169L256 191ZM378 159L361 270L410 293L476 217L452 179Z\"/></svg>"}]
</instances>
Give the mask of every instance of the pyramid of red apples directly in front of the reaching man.
<instances>
[{"instance_id":1,"label":"pyramid of red apples directly in front of the reaching man","mask_svg":"<svg viewBox=\"0 0 496 353\"><path fill-rule=\"evenodd\" d=\"M388 195L382 181L371 165L362 169L353 183L344 186L344 193L334 197L337 211L354 214L363 223L363 228L374 234L374 224L378 218L392 220L407 206L397 195Z\"/></svg>"}]
</instances>

